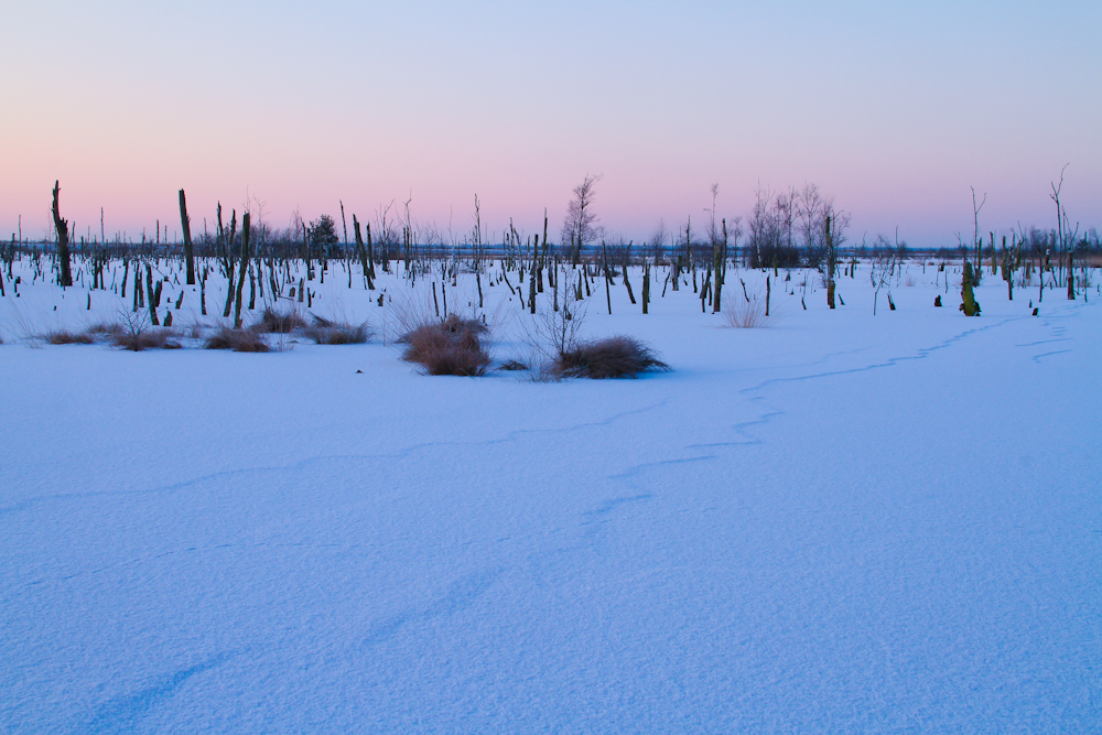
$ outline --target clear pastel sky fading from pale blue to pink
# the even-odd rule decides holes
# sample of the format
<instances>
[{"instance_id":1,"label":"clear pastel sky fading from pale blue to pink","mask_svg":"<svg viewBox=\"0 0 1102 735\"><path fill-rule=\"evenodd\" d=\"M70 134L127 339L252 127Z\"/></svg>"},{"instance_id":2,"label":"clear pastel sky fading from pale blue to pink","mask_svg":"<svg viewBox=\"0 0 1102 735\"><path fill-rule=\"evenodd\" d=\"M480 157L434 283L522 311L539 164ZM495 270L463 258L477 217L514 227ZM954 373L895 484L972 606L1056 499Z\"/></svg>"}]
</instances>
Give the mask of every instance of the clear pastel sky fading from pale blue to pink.
<instances>
[{"instance_id":1,"label":"clear pastel sky fading from pale blue to pink","mask_svg":"<svg viewBox=\"0 0 1102 735\"><path fill-rule=\"evenodd\" d=\"M814 182L851 239L1102 227L1102 3L4 0L0 236L179 231L215 204L287 226L412 196L460 235L603 174L612 236Z\"/></svg>"}]
</instances>

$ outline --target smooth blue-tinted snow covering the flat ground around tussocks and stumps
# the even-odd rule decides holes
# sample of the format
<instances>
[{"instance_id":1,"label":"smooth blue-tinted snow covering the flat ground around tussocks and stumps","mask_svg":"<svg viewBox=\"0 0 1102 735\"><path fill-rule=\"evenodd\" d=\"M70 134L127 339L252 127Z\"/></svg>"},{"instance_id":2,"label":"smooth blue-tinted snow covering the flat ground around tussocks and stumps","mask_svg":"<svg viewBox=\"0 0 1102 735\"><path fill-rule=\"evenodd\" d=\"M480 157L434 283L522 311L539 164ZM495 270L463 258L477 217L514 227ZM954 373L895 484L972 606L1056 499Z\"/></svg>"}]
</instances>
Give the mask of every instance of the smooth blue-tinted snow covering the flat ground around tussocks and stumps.
<instances>
[{"instance_id":1,"label":"smooth blue-tinted snow covering the flat ground around tussocks and stumps","mask_svg":"<svg viewBox=\"0 0 1102 735\"><path fill-rule=\"evenodd\" d=\"M647 315L597 279L584 336L673 370L534 382L402 363L424 279L381 277L382 306L358 271L313 282L366 345L131 353L36 342L131 298L20 268L4 733L1102 729L1096 285L1033 316L1036 285L1008 301L988 270L968 318L959 272L912 262L873 316L864 268L834 311L781 270L774 323L730 328L665 270ZM732 269L725 302L738 279L764 296ZM491 353L522 357L496 280ZM176 327L219 322L224 285L206 318L164 288Z\"/></svg>"}]
</instances>

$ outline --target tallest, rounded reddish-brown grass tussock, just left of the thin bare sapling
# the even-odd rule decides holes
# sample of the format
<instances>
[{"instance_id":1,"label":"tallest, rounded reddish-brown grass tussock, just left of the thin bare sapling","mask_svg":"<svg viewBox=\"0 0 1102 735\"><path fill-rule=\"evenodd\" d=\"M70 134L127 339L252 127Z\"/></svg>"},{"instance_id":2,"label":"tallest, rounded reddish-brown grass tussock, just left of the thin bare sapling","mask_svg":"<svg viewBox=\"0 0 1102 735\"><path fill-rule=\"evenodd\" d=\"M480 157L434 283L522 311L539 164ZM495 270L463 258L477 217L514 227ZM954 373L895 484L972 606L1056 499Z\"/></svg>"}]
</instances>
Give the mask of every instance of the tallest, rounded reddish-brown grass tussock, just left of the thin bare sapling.
<instances>
[{"instance_id":1,"label":"tallest, rounded reddish-brown grass tussock, just left of the thin bare sapling","mask_svg":"<svg viewBox=\"0 0 1102 735\"><path fill-rule=\"evenodd\" d=\"M489 354L482 345L488 332L478 320L455 314L442 322L423 323L398 338L406 345L402 359L417 363L429 375L479 376L489 367Z\"/></svg>"}]
</instances>

